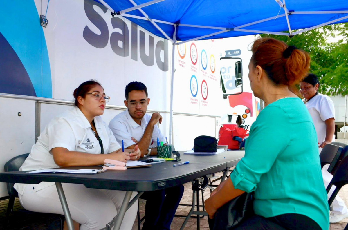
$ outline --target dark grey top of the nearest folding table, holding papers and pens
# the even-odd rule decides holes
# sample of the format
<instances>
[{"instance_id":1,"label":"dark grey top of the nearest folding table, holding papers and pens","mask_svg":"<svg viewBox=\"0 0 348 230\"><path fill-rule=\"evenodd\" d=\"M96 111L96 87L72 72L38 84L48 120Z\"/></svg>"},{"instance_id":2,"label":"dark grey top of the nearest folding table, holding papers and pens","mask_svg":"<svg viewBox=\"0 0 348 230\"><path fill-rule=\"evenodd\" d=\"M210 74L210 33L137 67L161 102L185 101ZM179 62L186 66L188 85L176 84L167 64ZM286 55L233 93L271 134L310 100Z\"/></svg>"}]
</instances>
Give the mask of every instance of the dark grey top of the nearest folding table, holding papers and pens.
<instances>
[{"instance_id":1,"label":"dark grey top of the nearest folding table, holding papers and pens","mask_svg":"<svg viewBox=\"0 0 348 230\"><path fill-rule=\"evenodd\" d=\"M99 174L5 172L0 173L0 182L38 184L48 181L84 184L87 188L153 191L187 183L200 176L226 169L226 163L220 161L190 162L190 164L173 167L177 163L168 161L153 164L151 167L107 170ZM101 167L69 167L69 169L81 168L100 169Z\"/></svg>"}]
</instances>

